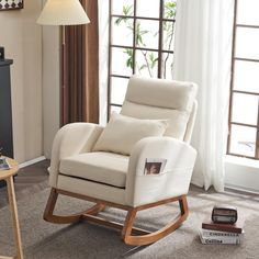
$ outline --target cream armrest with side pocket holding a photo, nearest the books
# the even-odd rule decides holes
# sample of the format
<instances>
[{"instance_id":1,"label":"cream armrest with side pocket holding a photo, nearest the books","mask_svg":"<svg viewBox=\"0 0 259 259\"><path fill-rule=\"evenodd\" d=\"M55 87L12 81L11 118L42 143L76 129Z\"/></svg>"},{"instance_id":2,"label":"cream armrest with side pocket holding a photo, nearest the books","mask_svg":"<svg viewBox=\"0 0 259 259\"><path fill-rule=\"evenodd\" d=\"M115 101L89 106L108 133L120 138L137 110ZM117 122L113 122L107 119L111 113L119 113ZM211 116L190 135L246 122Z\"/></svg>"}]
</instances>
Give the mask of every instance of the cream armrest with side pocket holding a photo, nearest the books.
<instances>
[{"instance_id":1,"label":"cream armrest with side pocket holding a photo, nearest the books","mask_svg":"<svg viewBox=\"0 0 259 259\"><path fill-rule=\"evenodd\" d=\"M145 174L147 158L167 159L164 171ZM130 157L126 179L126 204L137 206L187 194L196 150L172 137L147 137L139 140Z\"/></svg>"}]
</instances>

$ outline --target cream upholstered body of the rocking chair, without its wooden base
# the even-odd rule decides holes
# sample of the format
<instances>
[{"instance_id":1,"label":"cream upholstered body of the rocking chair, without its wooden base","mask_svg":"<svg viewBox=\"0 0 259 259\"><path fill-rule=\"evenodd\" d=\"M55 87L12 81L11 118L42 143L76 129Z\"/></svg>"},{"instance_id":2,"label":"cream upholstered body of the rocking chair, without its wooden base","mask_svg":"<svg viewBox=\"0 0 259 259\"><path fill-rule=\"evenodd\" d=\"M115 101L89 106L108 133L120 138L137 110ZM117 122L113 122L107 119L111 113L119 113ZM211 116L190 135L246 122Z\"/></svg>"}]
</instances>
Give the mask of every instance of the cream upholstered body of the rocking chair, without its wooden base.
<instances>
[{"instance_id":1,"label":"cream upholstered body of the rocking chair, without its wooden base","mask_svg":"<svg viewBox=\"0 0 259 259\"><path fill-rule=\"evenodd\" d=\"M50 185L128 206L187 194L196 151L183 139L191 139L195 92L190 82L132 77L122 114L105 130L75 123L57 133ZM164 172L145 176L147 158L167 159Z\"/></svg>"}]
</instances>

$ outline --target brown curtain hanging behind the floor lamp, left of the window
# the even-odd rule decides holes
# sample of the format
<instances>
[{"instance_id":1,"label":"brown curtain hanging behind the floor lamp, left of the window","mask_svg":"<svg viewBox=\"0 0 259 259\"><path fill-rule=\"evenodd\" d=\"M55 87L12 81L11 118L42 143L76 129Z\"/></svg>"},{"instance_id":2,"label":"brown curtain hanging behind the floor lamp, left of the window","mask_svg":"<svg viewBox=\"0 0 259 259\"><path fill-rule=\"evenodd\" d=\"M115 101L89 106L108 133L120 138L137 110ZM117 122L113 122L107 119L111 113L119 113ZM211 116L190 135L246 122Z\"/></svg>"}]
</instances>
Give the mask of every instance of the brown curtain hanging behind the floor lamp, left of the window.
<instances>
[{"instance_id":1,"label":"brown curtain hanging behind the floor lamp, left of the window","mask_svg":"<svg viewBox=\"0 0 259 259\"><path fill-rule=\"evenodd\" d=\"M60 1L60 3L64 1ZM91 21L88 26L65 26L67 76L61 95L63 125L99 122L99 18L98 1L80 0Z\"/></svg>"}]
</instances>

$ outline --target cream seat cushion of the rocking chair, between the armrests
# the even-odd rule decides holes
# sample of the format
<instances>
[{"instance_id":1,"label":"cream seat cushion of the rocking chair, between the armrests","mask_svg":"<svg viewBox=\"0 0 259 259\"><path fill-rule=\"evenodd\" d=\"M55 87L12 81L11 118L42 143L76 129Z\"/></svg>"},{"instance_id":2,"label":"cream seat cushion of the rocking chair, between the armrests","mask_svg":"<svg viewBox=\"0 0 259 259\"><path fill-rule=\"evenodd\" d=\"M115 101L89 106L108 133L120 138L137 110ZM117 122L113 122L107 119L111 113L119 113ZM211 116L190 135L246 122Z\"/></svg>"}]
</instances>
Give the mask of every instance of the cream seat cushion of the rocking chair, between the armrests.
<instances>
[{"instance_id":1,"label":"cream seat cushion of the rocking chair, between the armrests","mask_svg":"<svg viewBox=\"0 0 259 259\"><path fill-rule=\"evenodd\" d=\"M125 188L128 157L112 153L85 153L61 159L63 174Z\"/></svg>"}]
</instances>

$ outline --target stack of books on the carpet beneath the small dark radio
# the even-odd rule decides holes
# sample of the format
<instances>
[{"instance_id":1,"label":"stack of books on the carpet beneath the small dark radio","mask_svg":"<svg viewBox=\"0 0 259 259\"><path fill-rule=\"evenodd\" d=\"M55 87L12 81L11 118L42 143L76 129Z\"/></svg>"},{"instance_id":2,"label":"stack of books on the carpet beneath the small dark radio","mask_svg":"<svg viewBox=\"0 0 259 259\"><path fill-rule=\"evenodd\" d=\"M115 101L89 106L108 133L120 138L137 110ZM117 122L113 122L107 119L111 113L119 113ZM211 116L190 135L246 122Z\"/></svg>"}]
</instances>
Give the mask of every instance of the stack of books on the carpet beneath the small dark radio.
<instances>
[{"instance_id":1,"label":"stack of books on the carpet beneath the small dark radio","mask_svg":"<svg viewBox=\"0 0 259 259\"><path fill-rule=\"evenodd\" d=\"M243 222L218 224L212 221L202 223L200 238L202 244L240 244L244 238Z\"/></svg>"}]
</instances>

